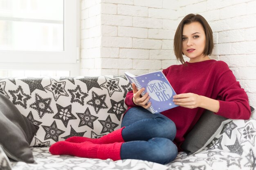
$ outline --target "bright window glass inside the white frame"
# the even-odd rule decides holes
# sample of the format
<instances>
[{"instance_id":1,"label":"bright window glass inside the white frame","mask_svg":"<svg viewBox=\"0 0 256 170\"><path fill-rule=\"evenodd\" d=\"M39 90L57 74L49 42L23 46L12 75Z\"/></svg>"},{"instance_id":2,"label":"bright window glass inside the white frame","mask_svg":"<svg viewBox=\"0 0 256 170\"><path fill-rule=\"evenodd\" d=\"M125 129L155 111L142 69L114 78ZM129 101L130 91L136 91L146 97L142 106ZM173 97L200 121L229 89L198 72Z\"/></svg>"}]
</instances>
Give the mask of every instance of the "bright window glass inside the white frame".
<instances>
[{"instance_id":1,"label":"bright window glass inside the white frame","mask_svg":"<svg viewBox=\"0 0 256 170\"><path fill-rule=\"evenodd\" d=\"M63 6L63 0L0 0L0 50L63 51Z\"/></svg>"}]
</instances>

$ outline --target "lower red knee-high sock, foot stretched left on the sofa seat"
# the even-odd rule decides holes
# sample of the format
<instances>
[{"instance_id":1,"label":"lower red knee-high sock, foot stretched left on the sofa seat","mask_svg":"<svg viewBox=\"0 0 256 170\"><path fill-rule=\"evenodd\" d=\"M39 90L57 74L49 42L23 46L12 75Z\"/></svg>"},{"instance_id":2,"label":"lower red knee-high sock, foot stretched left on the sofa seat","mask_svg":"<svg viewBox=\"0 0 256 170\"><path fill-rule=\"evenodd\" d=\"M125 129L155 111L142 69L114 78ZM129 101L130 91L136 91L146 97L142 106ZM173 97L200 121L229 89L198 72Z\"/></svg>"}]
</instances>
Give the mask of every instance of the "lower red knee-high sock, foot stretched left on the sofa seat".
<instances>
[{"instance_id":1,"label":"lower red knee-high sock, foot stretched left on the sofa seat","mask_svg":"<svg viewBox=\"0 0 256 170\"><path fill-rule=\"evenodd\" d=\"M50 146L52 155L73 155L77 157L120 160L121 145L124 142L112 144L93 144L92 142L72 143L66 141L56 142Z\"/></svg>"}]
</instances>

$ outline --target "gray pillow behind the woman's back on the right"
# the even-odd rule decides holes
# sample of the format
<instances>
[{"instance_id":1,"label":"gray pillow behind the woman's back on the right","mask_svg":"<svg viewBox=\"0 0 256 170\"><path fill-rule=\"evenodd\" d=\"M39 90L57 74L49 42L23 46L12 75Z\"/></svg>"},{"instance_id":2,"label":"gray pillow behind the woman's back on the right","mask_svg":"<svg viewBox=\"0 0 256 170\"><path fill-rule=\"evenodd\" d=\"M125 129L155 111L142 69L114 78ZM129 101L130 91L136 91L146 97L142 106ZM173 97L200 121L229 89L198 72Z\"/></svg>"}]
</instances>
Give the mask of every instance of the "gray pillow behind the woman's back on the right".
<instances>
[{"instance_id":1,"label":"gray pillow behind the woman's back on the right","mask_svg":"<svg viewBox=\"0 0 256 170\"><path fill-rule=\"evenodd\" d=\"M251 112L254 108L251 107ZM188 154L193 155L203 150L218 133L223 129L225 124L232 119L216 115L212 111L206 110L193 129L185 136L181 148Z\"/></svg>"}]
</instances>

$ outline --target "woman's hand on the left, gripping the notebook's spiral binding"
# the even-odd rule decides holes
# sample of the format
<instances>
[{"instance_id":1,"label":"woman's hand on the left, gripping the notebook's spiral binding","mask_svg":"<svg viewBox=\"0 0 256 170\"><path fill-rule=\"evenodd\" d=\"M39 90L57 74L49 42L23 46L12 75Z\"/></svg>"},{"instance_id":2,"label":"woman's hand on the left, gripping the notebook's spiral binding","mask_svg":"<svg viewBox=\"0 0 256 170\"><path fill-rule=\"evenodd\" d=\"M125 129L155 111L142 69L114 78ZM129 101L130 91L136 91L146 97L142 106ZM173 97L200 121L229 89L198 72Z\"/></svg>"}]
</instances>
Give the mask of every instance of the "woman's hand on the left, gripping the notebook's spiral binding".
<instances>
[{"instance_id":1,"label":"woman's hand on the left, gripping the notebook's spiral binding","mask_svg":"<svg viewBox=\"0 0 256 170\"><path fill-rule=\"evenodd\" d=\"M148 96L148 93L146 93L144 96L141 96L141 93L145 90L145 88L142 88L138 91L136 88L136 85L132 83L132 90L133 90L132 100L135 103L135 105L148 109L148 107L150 107L151 105L151 102L147 104L148 100L150 99L150 96Z\"/></svg>"}]
</instances>

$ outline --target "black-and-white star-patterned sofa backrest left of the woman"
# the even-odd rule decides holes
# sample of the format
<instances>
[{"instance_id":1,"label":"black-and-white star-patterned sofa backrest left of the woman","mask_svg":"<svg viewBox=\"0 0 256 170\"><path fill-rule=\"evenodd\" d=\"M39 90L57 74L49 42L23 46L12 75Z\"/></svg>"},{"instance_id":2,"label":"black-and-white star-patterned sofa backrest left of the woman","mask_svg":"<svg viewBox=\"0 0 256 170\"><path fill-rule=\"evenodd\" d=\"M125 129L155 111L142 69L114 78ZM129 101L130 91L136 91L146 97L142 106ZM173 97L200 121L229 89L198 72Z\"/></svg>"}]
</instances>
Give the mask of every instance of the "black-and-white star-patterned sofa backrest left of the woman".
<instances>
[{"instance_id":1,"label":"black-and-white star-patterned sofa backrest left of the woman","mask_svg":"<svg viewBox=\"0 0 256 170\"><path fill-rule=\"evenodd\" d=\"M121 128L130 90L125 76L0 80L0 93L40 127L30 146L50 146L71 136L98 138Z\"/></svg>"}]
</instances>

